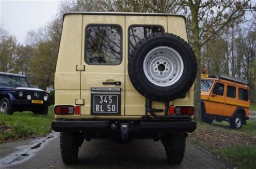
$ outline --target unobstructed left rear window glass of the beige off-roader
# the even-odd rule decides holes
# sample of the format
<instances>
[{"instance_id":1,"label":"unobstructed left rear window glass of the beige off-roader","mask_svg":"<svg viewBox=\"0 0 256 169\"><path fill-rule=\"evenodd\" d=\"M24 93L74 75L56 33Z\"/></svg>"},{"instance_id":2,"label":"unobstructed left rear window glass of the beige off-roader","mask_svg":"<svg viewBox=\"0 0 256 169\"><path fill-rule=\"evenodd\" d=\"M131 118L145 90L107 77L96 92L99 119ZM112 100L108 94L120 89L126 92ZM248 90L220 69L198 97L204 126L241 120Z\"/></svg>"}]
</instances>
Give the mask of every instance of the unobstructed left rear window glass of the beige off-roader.
<instances>
[{"instance_id":1,"label":"unobstructed left rear window glass of the beige off-roader","mask_svg":"<svg viewBox=\"0 0 256 169\"><path fill-rule=\"evenodd\" d=\"M121 63L121 28L119 26L88 26L85 34L86 63Z\"/></svg>"}]
</instances>

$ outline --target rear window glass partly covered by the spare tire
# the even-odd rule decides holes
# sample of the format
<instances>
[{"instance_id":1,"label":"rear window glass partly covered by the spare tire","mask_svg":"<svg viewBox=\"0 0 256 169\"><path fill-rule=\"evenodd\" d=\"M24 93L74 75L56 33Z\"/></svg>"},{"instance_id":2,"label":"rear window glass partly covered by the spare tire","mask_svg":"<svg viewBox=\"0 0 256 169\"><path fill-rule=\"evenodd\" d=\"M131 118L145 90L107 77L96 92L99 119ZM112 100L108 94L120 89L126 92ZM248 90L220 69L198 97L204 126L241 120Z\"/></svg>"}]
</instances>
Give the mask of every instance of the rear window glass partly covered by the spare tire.
<instances>
[{"instance_id":1,"label":"rear window glass partly covered by the spare tire","mask_svg":"<svg viewBox=\"0 0 256 169\"><path fill-rule=\"evenodd\" d=\"M129 28L129 54L134 46L144 37L157 32L164 32L160 26L134 26Z\"/></svg>"}]
</instances>

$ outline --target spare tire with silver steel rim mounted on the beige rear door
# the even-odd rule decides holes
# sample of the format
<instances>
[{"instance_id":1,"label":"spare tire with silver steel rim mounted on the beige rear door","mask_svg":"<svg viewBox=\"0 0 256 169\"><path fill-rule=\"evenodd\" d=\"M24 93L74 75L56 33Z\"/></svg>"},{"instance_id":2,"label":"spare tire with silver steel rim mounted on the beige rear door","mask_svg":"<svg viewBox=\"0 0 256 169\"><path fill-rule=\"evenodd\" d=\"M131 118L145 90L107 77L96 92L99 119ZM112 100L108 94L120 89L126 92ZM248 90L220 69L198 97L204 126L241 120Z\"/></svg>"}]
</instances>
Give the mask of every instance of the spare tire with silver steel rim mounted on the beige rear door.
<instances>
[{"instance_id":1,"label":"spare tire with silver steel rim mounted on the beige rear door","mask_svg":"<svg viewBox=\"0 0 256 169\"><path fill-rule=\"evenodd\" d=\"M148 99L182 98L194 83L197 62L191 46L171 33L155 33L138 42L128 58L135 89Z\"/></svg>"}]
</instances>

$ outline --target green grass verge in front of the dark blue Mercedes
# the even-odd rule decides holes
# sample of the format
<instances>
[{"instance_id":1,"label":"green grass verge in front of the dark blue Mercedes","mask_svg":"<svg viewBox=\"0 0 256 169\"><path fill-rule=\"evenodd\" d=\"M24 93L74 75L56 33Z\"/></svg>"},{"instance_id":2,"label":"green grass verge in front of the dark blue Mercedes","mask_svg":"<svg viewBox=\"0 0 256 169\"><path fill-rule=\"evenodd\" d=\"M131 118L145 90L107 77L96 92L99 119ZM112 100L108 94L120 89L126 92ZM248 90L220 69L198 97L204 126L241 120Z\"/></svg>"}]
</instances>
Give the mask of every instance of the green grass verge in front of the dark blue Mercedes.
<instances>
[{"instance_id":1,"label":"green grass verge in front of the dark blue Mercedes","mask_svg":"<svg viewBox=\"0 0 256 169\"><path fill-rule=\"evenodd\" d=\"M15 112L13 115L0 113L0 142L39 137L51 132L53 106L48 108L47 115L32 112Z\"/></svg>"}]
</instances>

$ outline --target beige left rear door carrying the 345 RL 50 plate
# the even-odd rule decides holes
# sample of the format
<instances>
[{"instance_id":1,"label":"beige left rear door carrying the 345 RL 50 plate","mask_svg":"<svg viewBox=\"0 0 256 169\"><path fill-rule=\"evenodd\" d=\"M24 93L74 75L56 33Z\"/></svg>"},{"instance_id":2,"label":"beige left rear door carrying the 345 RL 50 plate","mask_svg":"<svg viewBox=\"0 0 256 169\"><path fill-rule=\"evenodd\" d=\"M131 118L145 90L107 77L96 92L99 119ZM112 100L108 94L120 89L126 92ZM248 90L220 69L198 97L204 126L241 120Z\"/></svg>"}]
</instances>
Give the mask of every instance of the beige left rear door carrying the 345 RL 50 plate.
<instances>
[{"instance_id":1,"label":"beige left rear door carrying the 345 RL 50 plate","mask_svg":"<svg viewBox=\"0 0 256 169\"><path fill-rule=\"evenodd\" d=\"M124 28L125 16L83 15L81 115L125 114Z\"/></svg>"}]
</instances>

